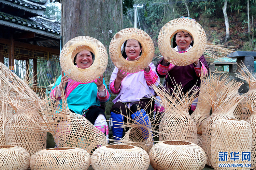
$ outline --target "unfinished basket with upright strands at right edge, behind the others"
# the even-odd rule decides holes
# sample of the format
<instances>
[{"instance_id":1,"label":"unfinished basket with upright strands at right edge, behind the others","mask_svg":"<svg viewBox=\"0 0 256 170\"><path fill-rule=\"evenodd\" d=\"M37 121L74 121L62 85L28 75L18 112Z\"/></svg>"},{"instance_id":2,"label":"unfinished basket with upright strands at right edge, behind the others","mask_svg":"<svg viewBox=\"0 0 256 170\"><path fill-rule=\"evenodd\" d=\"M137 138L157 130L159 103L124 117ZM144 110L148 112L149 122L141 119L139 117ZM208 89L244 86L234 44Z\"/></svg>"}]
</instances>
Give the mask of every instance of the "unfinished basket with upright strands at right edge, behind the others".
<instances>
[{"instance_id":1,"label":"unfinished basket with upright strands at right edge, behind the others","mask_svg":"<svg viewBox=\"0 0 256 170\"><path fill-rule=\"evenodd\" d=\"M242 69L239 71L241 75L236 74L236 77L245 80L249 84L249 90L245 93L244 99L241 101L242 120L247 120L251 115L251 111L245 107L246 103L254 102L256 100L256 78L246 68L244 64L241 65Z\"/></svg>"}]
</instances>

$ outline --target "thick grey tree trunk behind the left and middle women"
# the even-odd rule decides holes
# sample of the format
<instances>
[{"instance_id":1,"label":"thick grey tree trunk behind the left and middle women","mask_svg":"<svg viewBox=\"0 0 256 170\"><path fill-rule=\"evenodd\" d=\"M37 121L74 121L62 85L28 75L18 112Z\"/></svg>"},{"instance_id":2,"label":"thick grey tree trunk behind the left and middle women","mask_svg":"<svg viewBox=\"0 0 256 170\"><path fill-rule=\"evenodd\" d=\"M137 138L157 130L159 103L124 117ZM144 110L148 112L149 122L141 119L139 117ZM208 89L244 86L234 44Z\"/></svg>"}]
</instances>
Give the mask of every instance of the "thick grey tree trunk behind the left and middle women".
<instances>
[{"instance_id":1,"label":"thick grey tree trunk behind the left and middle women","mask_svg":"<svg viewBox=\"0 0 256 170\"><path fill-rule=\"evenodd\" d=\"M77 36L98 39L107 49L113 36L123 29L122 0L62 0L61 37L62 47ZM110 60L105 71L108 84L114 65Z\"/></svg>"}]
</instances>

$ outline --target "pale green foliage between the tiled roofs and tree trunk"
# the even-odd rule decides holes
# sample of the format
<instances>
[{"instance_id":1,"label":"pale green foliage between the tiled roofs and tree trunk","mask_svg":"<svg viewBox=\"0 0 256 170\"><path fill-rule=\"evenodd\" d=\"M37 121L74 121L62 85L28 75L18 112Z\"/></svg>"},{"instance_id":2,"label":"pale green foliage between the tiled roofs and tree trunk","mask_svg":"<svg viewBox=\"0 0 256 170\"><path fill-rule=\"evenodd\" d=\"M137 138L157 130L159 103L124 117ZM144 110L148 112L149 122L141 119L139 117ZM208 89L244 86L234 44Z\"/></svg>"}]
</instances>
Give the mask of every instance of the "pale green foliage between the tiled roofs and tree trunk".
<instances>
[{"instance_id":1,"label":"pale green foliage between the tiled roofs and tree trunk","mask_svg":"<svg viewBox=\"0 0 256 170\"><path fill-rule=\"evenodd\" d=\"M46 5L46 11L44 12L44 16L48 18L54 18L55 13L57 14L57 21L60 22L60 8L58 2L48 2Z\"/></svg>"}]
</instances>

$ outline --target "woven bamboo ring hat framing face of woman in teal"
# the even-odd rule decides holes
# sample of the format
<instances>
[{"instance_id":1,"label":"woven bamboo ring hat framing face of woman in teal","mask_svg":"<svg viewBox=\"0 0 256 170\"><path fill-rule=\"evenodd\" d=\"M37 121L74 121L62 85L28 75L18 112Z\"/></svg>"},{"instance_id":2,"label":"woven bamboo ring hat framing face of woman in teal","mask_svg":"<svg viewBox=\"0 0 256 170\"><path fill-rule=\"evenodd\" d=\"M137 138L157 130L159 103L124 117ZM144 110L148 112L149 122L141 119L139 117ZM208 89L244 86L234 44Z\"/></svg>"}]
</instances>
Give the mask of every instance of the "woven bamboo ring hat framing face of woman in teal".
<instances>
[{"instance_id":1,"label":"woven bamboo ring hat framing face of woman in teal","mask_svg":"<svg viewBox=\"0 0 256 170\"><path fill-rule=\"evenodd\" d=\"M74 57L83 50L95 54L93 64L86 69L77 68L73 64ZM108 65L108 53L103 44L89 36L79 36L69 40L60 53L60 66L72 80L82 83L92 82L100 77Z\"/></svg>"}]
</instances>

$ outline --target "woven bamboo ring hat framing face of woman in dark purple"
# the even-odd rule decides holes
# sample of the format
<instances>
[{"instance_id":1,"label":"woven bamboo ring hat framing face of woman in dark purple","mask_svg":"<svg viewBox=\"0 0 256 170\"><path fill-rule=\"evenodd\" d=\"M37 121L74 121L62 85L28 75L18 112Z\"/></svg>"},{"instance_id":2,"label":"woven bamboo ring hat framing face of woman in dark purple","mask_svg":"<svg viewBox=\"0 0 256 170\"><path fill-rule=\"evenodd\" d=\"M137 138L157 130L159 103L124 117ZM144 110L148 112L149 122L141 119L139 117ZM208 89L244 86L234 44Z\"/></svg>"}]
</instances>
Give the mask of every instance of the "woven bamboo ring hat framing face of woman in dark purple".
<instances>
[{"instance_id":1,"label":"woven bamboo ring hat framing face of woman in dark purple","mask_svg":"<svg viewBox=\"0 0 256 170\"><path fill-rule=\"evenodd\" d=\"M185 31L194 39L193 47L186 53L177 53L170 45L171 38L177 32ZM181 17L167 22L158 35L158 47L162 56L176 66L186 66L199 59L206 47L207 38L204 29L194 19ZM174 47L173 47L174 48Z\"/></svg>"}]
</instances>

